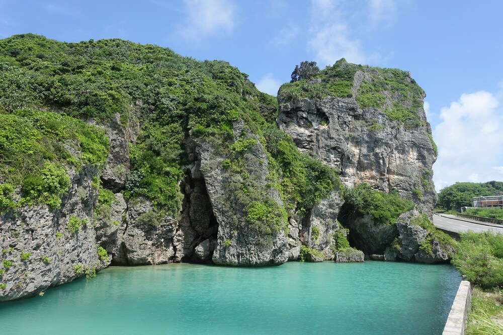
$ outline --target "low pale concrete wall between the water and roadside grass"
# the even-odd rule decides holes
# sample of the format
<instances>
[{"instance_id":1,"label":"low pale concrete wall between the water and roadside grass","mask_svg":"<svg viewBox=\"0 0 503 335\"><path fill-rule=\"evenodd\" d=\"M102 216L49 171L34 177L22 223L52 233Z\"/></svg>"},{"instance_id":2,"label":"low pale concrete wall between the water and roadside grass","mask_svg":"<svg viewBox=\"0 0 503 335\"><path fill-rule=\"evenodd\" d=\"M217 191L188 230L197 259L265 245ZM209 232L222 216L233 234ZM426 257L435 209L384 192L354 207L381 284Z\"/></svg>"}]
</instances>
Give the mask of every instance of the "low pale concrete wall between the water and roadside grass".
<instances>
[{"instance_id":1,"label":"low pale concrete wall between the water and roadside grass","mask_svg":"<svg viewBox=\"0 0 503 335\"><path fill-rule=\"evenodd\" d=\"M444 327L444 335L463 335L466 327L466 317L470 311L470 282L463 280L459 284L458 293L452 303L451 312Z\"/></svg>"}]
</instances>

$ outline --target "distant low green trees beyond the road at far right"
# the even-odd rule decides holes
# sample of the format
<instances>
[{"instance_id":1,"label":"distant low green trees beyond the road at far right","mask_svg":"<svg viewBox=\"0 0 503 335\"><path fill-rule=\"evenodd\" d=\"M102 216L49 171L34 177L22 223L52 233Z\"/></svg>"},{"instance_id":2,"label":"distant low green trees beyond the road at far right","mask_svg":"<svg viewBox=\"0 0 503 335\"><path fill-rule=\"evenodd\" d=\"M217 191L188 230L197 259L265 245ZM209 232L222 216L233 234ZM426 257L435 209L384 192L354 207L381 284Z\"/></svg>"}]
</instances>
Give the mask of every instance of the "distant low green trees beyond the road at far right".
<instances>
[{"instance_id":1,"label":"distant low green trees beyond the road at far right","mask_svg":"<svg viewBox=\"0 0 503 335\"><path fill-rule=\"evenodd\" d=\"M492 196L503 192L503 182L456 183L443 188L439 193L438 206L460 211L461 207L471 206L471 198Z\"/></svg>"}]
</instances>

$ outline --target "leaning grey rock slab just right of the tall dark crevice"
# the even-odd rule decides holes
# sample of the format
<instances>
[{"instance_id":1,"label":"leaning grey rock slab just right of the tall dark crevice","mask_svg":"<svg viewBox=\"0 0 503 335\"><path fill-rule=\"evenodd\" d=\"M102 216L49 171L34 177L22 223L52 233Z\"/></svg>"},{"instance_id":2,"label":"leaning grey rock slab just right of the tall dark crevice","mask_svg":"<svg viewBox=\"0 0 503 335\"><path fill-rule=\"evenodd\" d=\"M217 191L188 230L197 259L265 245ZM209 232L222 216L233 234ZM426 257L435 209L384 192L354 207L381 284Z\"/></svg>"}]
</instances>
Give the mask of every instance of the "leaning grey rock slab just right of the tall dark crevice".
<instances>
[{"instance_id":1,"label":"leaning grey rock slab just right of the tall dark crevice","mask_svg":"<svg viewBox=\"0 0 503 335\"><path fill-rule=\"evenodd\" d=\"M218 236L213 253L213 263L233 266L280 265L288 260L288 240L283 230L264 234L245 221L244 209L229 199L228 176L221 169L222 157L214 152L209 143L198 147L201 171L206 181L209 199L216 221ZM266 185L268 175L267 155L262 145L257 144L244 155L244 159L255 166L256 183ZM260 180L262 179L262 181ZM271 199L282 205L276 190L271 191Z\"/></svg>"}]
</instances>

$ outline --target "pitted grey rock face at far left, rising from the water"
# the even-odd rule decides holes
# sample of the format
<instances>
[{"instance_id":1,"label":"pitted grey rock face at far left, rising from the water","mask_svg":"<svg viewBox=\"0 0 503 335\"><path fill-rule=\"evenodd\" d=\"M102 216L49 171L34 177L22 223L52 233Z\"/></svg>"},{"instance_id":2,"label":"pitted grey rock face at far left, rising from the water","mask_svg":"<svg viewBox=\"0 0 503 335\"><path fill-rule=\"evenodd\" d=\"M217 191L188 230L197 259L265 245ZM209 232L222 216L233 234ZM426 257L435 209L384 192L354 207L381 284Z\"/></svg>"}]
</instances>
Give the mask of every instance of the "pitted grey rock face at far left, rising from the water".
<instances>
[{"instance_id":1,"label":"pitted grey rock face at far left, rising from the water","mask_svg":"<svg viewBox=\"0 0 503 335\"><path fill-rule=\"evenodd\" d=\"M98 258L92 226L97 194L91 178L96 173L91 165L79 173L70 171L71 187L58 210L39 205L2 215L2 283L6 287L0 290L0 301L35 295L110 264L110 258ZM71 231L67 223L72 216L87 224Z\"/></svg>"}]
</instances>

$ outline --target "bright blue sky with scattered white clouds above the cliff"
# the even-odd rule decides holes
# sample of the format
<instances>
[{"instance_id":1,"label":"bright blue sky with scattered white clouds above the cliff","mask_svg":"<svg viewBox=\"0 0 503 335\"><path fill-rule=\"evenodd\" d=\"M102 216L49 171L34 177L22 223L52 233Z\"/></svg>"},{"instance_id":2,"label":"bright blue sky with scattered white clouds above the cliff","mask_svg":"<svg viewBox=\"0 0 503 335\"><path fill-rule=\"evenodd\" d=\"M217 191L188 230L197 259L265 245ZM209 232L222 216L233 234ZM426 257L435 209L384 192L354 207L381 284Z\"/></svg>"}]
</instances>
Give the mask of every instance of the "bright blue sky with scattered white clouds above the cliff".
<instances>
[{"instance_id":1,"label":"bright blue sky with scattered white clouds above the cliff","mask_svg":"<svg viewBox=\"0 0 503 335\"><path fill-rule=\"evenodd\" d=\"M426 91L437 190L503 180L503 2L499 0L0 0L0 38L122 38L223 59L276 95L296 64L410 71Z\"/></svg>"}]
</instances>

